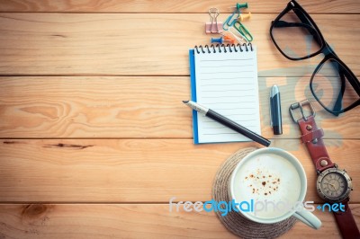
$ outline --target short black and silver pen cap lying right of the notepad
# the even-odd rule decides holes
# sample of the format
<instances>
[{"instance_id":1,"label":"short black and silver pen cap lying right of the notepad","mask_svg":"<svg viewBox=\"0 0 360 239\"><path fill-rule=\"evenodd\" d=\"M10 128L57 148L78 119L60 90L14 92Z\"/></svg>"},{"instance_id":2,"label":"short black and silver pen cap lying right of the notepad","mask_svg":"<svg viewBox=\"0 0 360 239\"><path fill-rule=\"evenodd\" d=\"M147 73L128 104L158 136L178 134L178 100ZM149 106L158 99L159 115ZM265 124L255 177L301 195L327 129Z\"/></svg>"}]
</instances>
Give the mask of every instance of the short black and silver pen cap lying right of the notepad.
<instances>
[{"instance_id":1,"label":"short black and silver pen cap lying right of the notepad","mask_svg":"<svg viewBox=\"0 0 360 239\"><path fill-rule=\"evenodd\" d=\"M281 100L279 88L273 85L270 92L270 124L275 135L283 134L283 123L281 114Z\"/></svg>"}]
</instances>

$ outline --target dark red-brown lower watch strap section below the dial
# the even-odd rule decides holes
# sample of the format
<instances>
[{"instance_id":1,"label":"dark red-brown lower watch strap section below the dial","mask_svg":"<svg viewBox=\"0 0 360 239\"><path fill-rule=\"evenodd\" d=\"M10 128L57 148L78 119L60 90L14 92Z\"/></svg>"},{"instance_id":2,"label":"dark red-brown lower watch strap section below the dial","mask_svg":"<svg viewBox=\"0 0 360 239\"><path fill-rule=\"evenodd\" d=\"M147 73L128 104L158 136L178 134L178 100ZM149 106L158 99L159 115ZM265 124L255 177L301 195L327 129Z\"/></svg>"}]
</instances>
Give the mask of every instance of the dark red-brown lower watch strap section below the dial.
<instances>
[{"instance_id":1,"label":"dark red-brown lower watch strap section below the dial","mask_svg":"<svg viewBox=\"0 0 360 239\"><path fill-rule=\"evenodd\" d=\"M344 239L359 239L360 232L356 226L356 221L351 213L351 209L348 207L348 199L343 201L343 204L345 205L345 212L334 212L341 235Z\"/></svg>"}]
</instances>

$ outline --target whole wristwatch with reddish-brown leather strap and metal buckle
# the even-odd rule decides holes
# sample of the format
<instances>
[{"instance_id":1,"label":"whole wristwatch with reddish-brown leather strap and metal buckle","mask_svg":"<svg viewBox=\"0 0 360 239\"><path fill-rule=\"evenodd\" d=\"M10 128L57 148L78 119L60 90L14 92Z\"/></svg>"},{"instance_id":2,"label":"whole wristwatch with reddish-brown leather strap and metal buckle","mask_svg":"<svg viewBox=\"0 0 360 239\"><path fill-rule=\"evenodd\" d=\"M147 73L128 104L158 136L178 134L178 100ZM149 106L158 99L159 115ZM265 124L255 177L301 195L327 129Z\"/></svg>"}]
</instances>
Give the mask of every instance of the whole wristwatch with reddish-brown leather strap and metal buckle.
<instances>
[{"instance_id":1,"label":"whole wristwatch with reddish-brown leather strap and metal buckle","mask_svg":"<svg viewBox=\"0 0 360 239\"><path fill-rule=\"evenodd\" d=\"M304 106L308 106L310 115L305 116ZM301 118L295 119L294 111L300 110ZM315 122L315 111L309 101L296 102L290 106L290 115L302 131L302 143L308 148L312 162L315 164L318 180L316 188L321 199L329 204L342 203L344 205L337 212L333 211L343 238L360 238L356 221L348 207L349 195L352 188L351 177L346 170L338 168L332 163L322 137L324 131ZM340 204L341 206L341 204ZM338 208L338 207L337 207Z\"/></svg>"}]
</instances>

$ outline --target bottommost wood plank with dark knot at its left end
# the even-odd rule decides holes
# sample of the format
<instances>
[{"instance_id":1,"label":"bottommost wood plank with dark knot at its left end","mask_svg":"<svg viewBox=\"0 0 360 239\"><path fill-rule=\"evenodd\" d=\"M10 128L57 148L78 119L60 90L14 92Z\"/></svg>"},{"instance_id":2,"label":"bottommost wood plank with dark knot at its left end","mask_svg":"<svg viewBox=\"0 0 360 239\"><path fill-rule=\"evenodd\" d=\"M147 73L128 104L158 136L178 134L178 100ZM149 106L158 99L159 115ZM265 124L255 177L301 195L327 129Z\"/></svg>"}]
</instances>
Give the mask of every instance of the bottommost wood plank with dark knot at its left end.
<instances>
[{"instance_id":1,"label":"bottommost wood plank with dark knot at its left end","mask_svg":"<svg viewBox=\"0 0 360 239\"><path fill-rule=\"evenodd\" d=\"M0 205L1 238L237 238L214 213L169 212L168 205ZM360 205L350 208L360 225ZM281 238L339 238L333 215L316 210L322 227L301 222Z\"/></svg>"}]
</instances>

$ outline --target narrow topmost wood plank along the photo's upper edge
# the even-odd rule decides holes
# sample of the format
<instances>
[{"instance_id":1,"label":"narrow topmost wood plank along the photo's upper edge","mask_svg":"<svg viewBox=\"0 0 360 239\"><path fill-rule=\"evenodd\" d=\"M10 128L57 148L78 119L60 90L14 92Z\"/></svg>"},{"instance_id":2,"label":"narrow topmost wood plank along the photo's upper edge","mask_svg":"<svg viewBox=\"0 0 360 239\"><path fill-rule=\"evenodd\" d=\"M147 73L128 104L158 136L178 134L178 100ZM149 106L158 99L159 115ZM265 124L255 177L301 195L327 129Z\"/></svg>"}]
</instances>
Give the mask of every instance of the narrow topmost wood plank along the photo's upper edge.
<instances>
[{"instance_id":1,"label":"narrow topmost wood plank along the photo's upper edge","mask_svg":"<svg viewBox=\"0 0 360 239\"><path fill-rule=\"evenodd\" d=\"M248 10L253 13L280 13L289 1L273 1L264 4L248 0ZM206 13L210 7L217 7L220 13L229 13L234 1L116 1L116 0L7 0L0 2L0 12L64 12L64 13ZM302 7L309 13L359 13L360 4L354 0L301 0Z\"/></svg>"}]
</instances>

